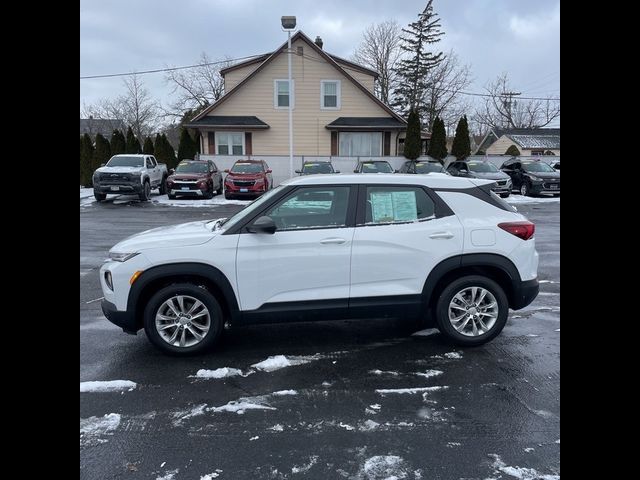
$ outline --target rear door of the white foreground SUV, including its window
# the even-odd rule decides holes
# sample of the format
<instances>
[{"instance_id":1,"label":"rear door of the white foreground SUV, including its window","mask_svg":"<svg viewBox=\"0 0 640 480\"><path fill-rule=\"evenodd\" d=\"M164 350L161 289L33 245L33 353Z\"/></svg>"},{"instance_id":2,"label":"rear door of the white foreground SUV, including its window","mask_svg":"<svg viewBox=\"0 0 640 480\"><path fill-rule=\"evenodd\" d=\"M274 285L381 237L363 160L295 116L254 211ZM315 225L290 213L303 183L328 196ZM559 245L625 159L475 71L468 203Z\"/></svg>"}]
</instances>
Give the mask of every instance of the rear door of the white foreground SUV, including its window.
<instances>
[{"instance_id":1,"label":"rear door of the white foreground SUV, including its window","mask_svg":"<svg viewBox=\"0 0 640 480\"><path fill-rule=\"evenodd\" d=\"M361 185L351 254L350 307L358 299L422 293L442 260L462 253L458 218L422 186Z\"/></svg>"}]
</instances>

